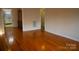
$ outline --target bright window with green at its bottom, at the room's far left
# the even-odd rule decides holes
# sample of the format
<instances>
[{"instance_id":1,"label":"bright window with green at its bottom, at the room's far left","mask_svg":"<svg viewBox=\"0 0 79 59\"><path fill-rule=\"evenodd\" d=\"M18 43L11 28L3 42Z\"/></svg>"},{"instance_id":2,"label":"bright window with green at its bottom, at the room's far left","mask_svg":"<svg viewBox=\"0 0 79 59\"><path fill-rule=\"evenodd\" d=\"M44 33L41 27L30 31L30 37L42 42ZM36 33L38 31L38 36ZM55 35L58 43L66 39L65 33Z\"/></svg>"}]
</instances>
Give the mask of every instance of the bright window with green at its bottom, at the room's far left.
<instances>
[{"instance_id":1,"label":"bright window with green at its bottom, at the room's far left","mask_svg":"<svg viewBox=\"0 0 79 59\"><path fill-rule=\"evenodd\" d=\"M5 28L6 27L13 27L12 10L11 9L3 9L3 16L4 16Z\"/></svg>"}]
</instances>

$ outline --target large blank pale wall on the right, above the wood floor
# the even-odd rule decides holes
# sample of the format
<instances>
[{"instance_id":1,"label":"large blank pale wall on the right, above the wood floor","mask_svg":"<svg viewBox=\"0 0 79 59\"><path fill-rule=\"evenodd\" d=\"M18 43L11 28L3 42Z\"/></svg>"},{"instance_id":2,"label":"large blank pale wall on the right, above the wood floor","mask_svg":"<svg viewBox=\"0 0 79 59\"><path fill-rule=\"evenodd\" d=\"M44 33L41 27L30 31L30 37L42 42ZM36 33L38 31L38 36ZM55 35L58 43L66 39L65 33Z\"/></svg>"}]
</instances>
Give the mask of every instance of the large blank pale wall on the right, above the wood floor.
<instances>
[{"instance_id":1,"label":"large blank pale wall on the right, above the wood floor","mask_svg":"<svg viewBox=\"0 0 79 59\"><path fill-rule=\"evenodd\" d=\"M48 32L79 41L79 9L46 9Z\"/></svg>"}]
</instances>

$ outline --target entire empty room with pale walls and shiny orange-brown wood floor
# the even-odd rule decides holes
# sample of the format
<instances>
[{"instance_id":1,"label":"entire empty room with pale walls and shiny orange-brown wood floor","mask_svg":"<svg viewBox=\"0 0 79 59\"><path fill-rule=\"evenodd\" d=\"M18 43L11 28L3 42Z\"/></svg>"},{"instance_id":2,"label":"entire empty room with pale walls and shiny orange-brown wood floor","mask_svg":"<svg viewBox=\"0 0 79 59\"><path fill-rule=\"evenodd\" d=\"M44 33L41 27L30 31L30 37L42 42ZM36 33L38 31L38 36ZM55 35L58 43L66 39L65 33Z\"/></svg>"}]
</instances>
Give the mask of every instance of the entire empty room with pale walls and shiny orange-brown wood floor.
<instances>
[{"instance_id":1,"label":"entire empty room with pale walls and shiny orange-brown wood floor","mask_svg":"<svg viewBox=\"0 0 79 59\"><path fill-rule=\"evenodd\" d=\"M0 51L79 51L79 8L0 8Z\"/></svg>"}]
</instances>

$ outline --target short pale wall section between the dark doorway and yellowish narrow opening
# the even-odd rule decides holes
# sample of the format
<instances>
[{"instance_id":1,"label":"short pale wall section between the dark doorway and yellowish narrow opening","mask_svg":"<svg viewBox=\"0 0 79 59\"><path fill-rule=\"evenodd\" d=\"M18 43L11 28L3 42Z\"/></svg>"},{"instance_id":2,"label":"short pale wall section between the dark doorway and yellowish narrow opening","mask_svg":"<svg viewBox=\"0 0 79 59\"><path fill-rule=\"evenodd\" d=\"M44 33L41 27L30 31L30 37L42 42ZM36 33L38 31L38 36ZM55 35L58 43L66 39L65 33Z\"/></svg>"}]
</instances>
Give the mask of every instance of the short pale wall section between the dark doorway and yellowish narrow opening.
<instances>
[{"instance_id":1,"label":"short pale wall section between the dark doorway and yellowish narrow opening","mask_svg":"<svg viewBox=\"0 0 79 59\"><path fill-rule=\"evenodd\" d=\"M25 8L22 9L23 31L36 30L41 27L40 9L38 8ZM36 25L33 25L33 22Z\"/></svg>"}]
</instances>

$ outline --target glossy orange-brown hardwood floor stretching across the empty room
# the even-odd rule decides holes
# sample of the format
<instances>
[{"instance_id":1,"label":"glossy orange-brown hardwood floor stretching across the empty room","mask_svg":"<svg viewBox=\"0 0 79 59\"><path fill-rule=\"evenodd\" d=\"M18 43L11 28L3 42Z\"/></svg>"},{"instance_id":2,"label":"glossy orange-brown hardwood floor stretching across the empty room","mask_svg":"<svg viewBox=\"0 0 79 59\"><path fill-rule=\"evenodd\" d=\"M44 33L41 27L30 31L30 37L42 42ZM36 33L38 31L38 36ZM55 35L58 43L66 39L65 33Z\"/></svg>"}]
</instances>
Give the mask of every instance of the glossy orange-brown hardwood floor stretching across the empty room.
<instances>
[{"instance_id":1,"label":"glossy orange-brown hardwood floor stretching across the empty room","mask_svg":"<svg viewBox=\"0 0 79 59\"><path fill-rule=\"evenodd\" d=\"M41 30L6 28L6 34L12 51L79 51L79 42Z\"/></svg>"}]
</instances>

